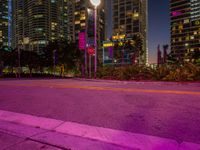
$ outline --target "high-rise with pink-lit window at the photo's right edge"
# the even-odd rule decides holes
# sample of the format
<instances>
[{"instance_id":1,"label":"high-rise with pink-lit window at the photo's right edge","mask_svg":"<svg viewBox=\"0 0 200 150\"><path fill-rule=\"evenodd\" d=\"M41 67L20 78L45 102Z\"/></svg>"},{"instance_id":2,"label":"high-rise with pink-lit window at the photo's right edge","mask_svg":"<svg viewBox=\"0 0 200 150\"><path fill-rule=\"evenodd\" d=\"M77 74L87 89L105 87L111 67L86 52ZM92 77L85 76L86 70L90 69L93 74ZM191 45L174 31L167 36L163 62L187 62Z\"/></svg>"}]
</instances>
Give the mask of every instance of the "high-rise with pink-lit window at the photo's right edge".
<instances>
[{"instance_id":1,"label":"high-rise with pink-lit window at the photo's right edge","mask_svg":"<svg viewBox=\"0 0 200 150\"><path fill-rule=\"evenodd\" d=\"M200 51L200 1L170 0L171 52L178 61L194 61Z\"/></svg>"}]
</instances>

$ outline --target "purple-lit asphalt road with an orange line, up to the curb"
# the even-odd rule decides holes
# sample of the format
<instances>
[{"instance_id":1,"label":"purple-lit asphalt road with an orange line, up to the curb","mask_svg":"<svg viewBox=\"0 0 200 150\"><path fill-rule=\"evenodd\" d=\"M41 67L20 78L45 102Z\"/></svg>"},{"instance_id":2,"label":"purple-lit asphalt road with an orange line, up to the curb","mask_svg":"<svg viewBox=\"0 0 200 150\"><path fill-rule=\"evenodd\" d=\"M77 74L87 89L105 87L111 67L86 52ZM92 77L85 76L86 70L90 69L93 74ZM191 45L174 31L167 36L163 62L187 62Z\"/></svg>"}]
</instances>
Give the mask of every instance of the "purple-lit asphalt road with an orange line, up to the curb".
<instances>
[{"instance_id":1,"label":"purple-lit asphalt road with an orange line, up to the curb","mask_svg":"<svg viewBox=\"0 0 200 150\"><path fill-rule=\"evenodd\" d=\"M200 144L200 83L0 80L0 109Z\"/></svg>"}]
</instances>

